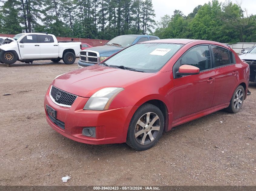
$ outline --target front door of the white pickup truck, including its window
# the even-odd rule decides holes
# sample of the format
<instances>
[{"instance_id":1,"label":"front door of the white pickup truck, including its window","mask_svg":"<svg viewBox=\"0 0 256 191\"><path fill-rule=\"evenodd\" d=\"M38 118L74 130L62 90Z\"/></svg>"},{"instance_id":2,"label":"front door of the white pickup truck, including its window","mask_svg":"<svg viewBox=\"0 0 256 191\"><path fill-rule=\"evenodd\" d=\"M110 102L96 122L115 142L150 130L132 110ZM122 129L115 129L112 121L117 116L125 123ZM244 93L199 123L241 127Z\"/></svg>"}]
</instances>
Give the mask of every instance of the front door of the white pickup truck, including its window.
<instances>
[{"instance_id":1,"label":"front door of the white pickup truck, including its window","mask_svg":"<svg viewBox=\"0 0 256 191\"><path fill-rule=\"evenodd\" d=\"M40 59L40 46L36 34L28 34L19 41L22 59Z\"/></svg>"}]
</instances>

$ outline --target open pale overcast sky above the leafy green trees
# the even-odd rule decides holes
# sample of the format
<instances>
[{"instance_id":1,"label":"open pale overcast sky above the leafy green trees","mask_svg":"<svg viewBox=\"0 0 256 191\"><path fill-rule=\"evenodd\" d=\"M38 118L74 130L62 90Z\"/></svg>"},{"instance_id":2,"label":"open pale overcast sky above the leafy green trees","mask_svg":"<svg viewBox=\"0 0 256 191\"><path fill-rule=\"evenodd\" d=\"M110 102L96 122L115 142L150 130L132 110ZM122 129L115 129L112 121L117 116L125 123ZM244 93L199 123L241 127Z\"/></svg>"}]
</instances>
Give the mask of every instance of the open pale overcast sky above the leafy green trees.
<instances>
[{"instance_id":1,"label":"open pale overcast sky above the leafy green trees","mask_svg":"<svg viewBox=\"0 0 256 191\"><path fill-rule=\"evenodd\" d=\"M165 14L171 16L175 9L182 11L187 16L196 6L208 2L209 0L152 0L156 15L155 21L159 21ZM225 2L225 0L219 0L219 2ZM246 8L249 14L256 14L256 0L232 0L232 2L241 3L241 7Z\"/></svg>"}]
</instances>

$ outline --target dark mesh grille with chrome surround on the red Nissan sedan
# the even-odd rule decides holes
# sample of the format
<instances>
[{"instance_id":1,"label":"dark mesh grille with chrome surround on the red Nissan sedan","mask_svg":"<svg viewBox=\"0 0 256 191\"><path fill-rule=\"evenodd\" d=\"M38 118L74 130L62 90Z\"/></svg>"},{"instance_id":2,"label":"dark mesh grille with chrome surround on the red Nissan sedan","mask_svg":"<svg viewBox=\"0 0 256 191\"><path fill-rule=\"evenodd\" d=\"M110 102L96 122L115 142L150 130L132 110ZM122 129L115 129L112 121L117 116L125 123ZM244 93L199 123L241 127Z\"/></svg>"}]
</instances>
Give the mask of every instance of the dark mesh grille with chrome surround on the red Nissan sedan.
<instances>
[{"instance_id":1,"label":"dark mesh grille with chrome surround on the red Nissan sedan","mask_svg":"<svg viewBox=\"0 0 256 191\"><path fill-rule=\"evenodd\" d=\"M55 88L54 86L51 88L50 95L53 102L63 107L71 107L77 98L76 95L69 94L68 92L62 91L58 88Z\"/></svg>"}]
</instances>

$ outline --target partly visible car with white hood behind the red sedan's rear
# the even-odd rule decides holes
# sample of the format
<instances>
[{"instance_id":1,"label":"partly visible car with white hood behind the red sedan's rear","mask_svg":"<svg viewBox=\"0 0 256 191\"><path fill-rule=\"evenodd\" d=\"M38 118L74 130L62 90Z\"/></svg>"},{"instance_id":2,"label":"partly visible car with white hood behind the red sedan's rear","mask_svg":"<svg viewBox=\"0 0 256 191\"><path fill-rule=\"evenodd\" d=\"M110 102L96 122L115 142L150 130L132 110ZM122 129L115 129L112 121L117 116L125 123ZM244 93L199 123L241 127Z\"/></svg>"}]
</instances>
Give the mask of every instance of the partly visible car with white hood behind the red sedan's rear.
<instances>
[{"instance_id":1,"label":"partly visible car with white hood behind the red sedan's rear","mask_svg":"<svg viewBox=\"0 0 256 191\"><path fill-rule=\"evenodd\" d=\"M256 82L256 46L249 53L240 55L239 58L250 66L250 81Z\"/></svg>"}]
</instances>

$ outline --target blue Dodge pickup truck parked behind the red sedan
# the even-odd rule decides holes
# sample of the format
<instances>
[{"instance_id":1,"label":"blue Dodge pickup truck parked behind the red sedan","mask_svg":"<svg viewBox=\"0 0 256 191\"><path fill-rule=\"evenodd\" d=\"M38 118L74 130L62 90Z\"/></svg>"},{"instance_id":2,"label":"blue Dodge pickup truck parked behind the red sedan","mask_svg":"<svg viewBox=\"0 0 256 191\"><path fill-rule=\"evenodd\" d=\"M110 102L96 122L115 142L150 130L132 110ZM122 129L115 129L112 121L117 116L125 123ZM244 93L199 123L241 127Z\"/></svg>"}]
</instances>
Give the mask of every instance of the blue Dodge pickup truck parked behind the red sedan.
<instances>
[{"instance_id":1,"label":"blue Dodge pickup truck parked behind the red sedan","mask_svg":"<svg viewBox=\"0 0 256 191\"><path fill-rule=\"evenodd\" d=\"M108 41L108 43L106 43L104 46L96 46L81 51L78 66L80 68L83 68L85 66L98 64L99 62L105 60L109 56L117 53L121 49L124 49L128 46L144 41L158 39L159 37L156 36L139 34L128 34L115 37L112 40Z\"/></svg>"}]
</instances>

